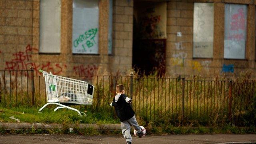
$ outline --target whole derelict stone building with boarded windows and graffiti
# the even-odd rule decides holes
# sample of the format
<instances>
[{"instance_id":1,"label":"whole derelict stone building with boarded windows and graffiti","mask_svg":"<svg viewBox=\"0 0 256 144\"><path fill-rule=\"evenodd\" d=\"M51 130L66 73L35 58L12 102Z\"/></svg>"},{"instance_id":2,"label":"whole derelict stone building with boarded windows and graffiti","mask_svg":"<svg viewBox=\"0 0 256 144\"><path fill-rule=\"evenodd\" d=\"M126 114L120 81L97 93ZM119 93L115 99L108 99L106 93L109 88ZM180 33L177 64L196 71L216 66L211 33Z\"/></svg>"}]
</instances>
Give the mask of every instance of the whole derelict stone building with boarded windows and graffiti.
<instances>
[{"instance_id":1,"label":"whole derelict stone building with boarded windows and graffiti","mask_svg":"<svg viewBox=\"0 0 256 144\"><path fill-rule=\"evenodd\" d=\"M256 0L0 0L0 70L256 76Z\"/></svg>"}]
</instances>

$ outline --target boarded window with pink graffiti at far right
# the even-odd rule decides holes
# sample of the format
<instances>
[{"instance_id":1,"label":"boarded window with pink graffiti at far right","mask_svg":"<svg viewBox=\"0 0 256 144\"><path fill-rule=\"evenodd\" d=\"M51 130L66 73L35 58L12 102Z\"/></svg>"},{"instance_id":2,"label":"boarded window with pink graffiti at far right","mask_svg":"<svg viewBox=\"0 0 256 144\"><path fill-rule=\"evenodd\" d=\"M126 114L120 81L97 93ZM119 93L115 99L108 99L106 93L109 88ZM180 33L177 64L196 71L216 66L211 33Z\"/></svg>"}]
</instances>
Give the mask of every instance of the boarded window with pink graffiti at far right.
<instances>
[{"instance_id":1,"label":"boarded window with pink graffiti at far right","mask_svg":"<svg viewBox=\"0 0 256 144\"><path fill-rule=\"evenodd\" d=\"M224 58L245 59L247 6L225 4Z\"/></svg>"}]
</instances>

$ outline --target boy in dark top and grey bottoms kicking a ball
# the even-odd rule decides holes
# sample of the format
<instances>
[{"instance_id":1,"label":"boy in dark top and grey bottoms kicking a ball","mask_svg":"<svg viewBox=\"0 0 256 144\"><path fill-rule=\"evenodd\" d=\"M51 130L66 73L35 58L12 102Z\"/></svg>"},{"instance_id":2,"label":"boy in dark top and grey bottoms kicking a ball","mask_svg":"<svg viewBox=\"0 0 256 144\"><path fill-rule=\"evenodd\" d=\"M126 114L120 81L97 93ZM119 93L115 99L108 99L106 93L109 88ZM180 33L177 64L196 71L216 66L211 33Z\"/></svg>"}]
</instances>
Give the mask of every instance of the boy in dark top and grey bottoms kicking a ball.
<instances>
[{"instance_id":1,"label":"boy in dark top and grey bottoms kicking a ball","mask_svg":"<svg viewBox=\"0 0 256 144\"><path fill-rule=\"evenodd\" d=\"M135 112L132 110L130 103L132 99L128 98L125 94L124 85L118 84L116 86L116 96L113 98L110 106L114 106L116 114L121 121L122 134L126 139L126 144L132 144L132 136L130 133L131 126L136 130L136 134L139 138L144 136L140 130L140 126L135 118Z\"/></svg>"}]
</instances>

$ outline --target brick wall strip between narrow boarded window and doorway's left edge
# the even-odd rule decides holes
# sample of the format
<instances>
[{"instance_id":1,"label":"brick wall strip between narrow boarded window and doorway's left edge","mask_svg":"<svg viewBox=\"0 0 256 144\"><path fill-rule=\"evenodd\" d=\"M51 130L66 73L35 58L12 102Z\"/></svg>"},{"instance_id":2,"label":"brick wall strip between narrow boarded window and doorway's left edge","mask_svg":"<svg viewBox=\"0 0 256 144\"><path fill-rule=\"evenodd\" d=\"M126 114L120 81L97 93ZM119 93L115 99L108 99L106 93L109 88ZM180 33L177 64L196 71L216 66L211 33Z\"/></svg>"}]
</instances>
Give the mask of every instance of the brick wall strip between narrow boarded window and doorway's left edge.
<instances>
[{"instance_id":1,"label":"brick wall strip between narrow boarded window and doorway's left edge","mask_svg":"<svg viewBox=\"0 0 256 144\"><path fill-rule=\"evenodd\" d=\"M122 72L132 68L133 0L113 1L112 67Z\"/></svg>"}]
</instances>

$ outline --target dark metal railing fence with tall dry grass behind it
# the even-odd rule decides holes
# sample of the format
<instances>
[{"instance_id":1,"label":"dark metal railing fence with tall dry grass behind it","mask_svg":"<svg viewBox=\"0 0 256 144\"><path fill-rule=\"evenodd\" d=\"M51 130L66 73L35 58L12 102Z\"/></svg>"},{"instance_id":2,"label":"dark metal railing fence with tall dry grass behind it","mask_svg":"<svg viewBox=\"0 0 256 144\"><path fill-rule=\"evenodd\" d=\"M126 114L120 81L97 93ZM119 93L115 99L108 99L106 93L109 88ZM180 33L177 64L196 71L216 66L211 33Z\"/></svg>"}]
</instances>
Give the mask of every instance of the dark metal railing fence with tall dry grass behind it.
<instances>
[{"instance_id":1,"label":"dark metal railing fence with tall dry grass behind it","mask_svg":"<svg viewBox=\"0 0 256 144\"><path fill-rule=\"evenodd\" d=\"M45 82L33 70L0 71L0 104L42 106ZM186 80L185 78L137 78L130 76L68 76L95 86L88 110L113 111L108 106L116 84L124 84L132 106L144 120L178 124L196 121L232 122L244 125L256 110L255 80Z\"/></svg>"}]
</instances>

